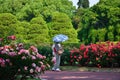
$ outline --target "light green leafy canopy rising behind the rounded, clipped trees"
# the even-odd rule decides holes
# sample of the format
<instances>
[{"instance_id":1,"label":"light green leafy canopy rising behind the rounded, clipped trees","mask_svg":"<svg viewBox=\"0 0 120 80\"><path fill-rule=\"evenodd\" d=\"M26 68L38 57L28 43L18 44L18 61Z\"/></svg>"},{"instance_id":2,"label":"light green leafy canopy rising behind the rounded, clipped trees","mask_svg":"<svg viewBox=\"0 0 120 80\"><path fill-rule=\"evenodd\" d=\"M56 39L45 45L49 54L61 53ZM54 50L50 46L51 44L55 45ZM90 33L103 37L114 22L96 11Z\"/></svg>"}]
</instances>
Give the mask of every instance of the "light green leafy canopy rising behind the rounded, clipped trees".
<instances>
[{"instance_id":1,"label":"light green leafy canopy rising behind the rounded, clipped trees","mask_svg":"<svg viewBox=\"0 0 120 80\"><path fill-rule=\"evenodd\" d=\"M49 21L51 12L63 12L72 17L75 7L68 0L0 0L0 13L12 13L20 21L30 21L40 14Z\"/></svg>"}]
</instances>

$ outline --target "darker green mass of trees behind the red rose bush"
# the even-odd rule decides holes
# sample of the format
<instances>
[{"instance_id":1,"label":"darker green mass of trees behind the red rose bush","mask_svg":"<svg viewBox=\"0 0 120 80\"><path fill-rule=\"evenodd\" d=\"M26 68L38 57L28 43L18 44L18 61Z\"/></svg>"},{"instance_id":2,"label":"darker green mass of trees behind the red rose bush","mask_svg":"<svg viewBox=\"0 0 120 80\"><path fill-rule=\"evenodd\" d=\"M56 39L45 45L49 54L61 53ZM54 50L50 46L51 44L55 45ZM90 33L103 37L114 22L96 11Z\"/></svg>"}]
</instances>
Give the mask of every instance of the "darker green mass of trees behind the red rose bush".
<instances>
[{"instance_id":1,"label":"darker green mass of trees behind the red rose bush","mask_svg":"<svg viewBox=\"0 0 120 80\"><path fill-rule=\"evenodd\" d=\"M118 31L115 30L120 22L119 3L119 0L100 0L97 5L89 9L77 9L73 17L73 25L78 30L80 41L89 44L90 42L119 40ZM109 29L109 26L113 29Z\"/></svg>"}]
</instances>

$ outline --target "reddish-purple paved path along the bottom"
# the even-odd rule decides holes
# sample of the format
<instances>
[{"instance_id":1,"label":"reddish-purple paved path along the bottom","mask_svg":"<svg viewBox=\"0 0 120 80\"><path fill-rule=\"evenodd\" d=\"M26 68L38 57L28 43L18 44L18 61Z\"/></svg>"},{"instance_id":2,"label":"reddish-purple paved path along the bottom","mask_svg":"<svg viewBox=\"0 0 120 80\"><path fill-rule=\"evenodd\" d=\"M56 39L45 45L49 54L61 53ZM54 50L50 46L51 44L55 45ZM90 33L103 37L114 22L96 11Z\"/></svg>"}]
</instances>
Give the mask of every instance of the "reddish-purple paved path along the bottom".
<instances>
[{"instance_id":1,"label":"reddish-purple paved path along the bottom","mask_svg":"<svg viewBox=\"0 0 120 80\"><path fill-rule=\"evenodd\" d=\"M120 72L46 71L43 80L120 80Z\"/></svg>"}]
</instances>

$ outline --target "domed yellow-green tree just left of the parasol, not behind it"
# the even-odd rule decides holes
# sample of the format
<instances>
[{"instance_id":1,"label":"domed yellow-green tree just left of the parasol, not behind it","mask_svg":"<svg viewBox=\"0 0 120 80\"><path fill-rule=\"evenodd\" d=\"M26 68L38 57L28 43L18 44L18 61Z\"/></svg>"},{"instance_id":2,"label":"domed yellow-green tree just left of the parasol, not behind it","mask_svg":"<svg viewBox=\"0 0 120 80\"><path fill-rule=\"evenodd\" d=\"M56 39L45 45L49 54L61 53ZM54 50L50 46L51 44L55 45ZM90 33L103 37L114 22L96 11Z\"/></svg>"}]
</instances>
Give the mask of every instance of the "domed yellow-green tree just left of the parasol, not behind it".
<instances>
[{"instance_id":1,"label":"domed yellow-green tree just left of the parasol, not behind it","mask_svg":"<svg viewBox=\"0 0 120 80\"><path fill-rule=\"evenodd\" d=\"M28 42L40 44L49 42L48 27L46 22L42 17L33 18L30 21L31 25L29 26L28 32Z\"/></svg>"}]
</instances>

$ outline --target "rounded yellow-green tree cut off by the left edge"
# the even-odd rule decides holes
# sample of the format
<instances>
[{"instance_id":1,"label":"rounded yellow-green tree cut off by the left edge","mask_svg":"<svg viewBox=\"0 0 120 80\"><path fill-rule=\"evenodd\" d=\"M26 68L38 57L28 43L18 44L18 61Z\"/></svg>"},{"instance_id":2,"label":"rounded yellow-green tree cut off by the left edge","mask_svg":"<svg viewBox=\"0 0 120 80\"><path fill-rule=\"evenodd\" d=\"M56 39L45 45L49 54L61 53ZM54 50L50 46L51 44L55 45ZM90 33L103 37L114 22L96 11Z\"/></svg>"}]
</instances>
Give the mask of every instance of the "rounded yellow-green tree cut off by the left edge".
<instances>
[{"instance_id":1,"label":"rounded yellow-green tree cut off by the left edge","mask_svg":"<svg viewBox=\"0 0 120 80\"><path fill-rule=\"evenodd\" d=\"M17 24L17 19L10 13L0 14L0 37L7 37L15 33L16 27L12 26Z\"/></svg>"}]
</instances>

